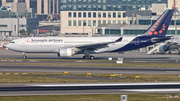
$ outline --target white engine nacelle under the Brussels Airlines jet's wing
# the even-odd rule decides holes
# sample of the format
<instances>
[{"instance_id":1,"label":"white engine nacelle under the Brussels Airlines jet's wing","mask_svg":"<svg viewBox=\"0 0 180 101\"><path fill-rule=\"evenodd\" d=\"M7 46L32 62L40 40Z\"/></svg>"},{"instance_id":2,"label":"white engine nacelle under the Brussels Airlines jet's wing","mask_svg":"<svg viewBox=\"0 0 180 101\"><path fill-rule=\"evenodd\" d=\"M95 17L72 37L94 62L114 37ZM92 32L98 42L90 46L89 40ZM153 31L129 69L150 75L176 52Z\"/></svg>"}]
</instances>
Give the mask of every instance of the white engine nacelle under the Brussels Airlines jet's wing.
<instances>
[{"instance_id":1,"label":"white engine nacelle under the Brussels Airlines jet's wing","mask_svg":"<svg viewBox=\"0 0 180 101\"><path fill-rule=\"evenodd\" d=\"M61 48L59 49L58 56L59 57L70 57L75 55L75 51L71 48Z\"/></svg>"}]
</instances>

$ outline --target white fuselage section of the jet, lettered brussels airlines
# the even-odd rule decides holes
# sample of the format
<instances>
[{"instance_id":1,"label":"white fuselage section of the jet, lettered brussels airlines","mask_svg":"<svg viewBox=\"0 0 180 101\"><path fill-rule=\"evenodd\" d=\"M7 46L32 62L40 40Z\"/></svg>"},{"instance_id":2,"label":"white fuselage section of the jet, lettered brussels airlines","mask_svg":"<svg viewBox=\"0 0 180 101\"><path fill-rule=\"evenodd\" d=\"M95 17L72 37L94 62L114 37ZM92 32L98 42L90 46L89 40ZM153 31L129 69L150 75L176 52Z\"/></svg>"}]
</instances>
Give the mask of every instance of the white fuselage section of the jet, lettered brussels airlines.
<instances>
[{"instance_id":1,"label":"white fuselage section of the jet, lettered brussels airlines","mask_svg":"<svg viewBox=\"0 0 180 101\"><path fill-rule=\"evenodd\" d=\"M29 37L13 40L6 47L10 50L26 53L58 53L61 48L73 48L84 44L96 44L116 41L119 37ZM109 44L108 47L94 50L95 53L117 50L135 37L123 37L121 42Z\"/></svg>"}]
</instances>

